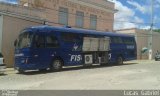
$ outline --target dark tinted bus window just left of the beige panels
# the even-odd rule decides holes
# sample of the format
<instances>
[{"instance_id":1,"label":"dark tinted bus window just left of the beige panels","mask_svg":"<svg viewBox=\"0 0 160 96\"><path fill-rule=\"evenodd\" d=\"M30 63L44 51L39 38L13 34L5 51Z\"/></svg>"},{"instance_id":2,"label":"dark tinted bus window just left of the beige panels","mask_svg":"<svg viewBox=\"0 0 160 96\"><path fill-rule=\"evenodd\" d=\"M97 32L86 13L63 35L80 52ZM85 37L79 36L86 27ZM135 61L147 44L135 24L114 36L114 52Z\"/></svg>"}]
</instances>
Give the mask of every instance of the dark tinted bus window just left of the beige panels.
<instances>
[{"instance_id":1,"label":"dark tinted bus window just left of the beige panels","mask_svg":"<svg viewBox=\"0 0 160 96\"><path fill-rule=\"evenodd\" d=\"M74 33L62 33L62 40L65 42L79 42L78 34Z\"/></svg>"}]
</instances>

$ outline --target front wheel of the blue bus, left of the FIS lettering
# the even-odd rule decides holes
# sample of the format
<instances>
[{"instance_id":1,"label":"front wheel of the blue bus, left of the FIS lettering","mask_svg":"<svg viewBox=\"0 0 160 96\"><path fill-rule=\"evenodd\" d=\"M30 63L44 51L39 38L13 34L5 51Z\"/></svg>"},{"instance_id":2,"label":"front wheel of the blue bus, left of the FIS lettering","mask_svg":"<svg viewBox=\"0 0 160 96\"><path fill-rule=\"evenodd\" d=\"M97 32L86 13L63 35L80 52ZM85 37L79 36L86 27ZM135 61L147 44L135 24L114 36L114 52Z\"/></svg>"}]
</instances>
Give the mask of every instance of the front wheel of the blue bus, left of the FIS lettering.
<instances>
[{"instance_id":1,"label":"front wheel of the blue bus, left of the FIS lettering","mask_svg":"<svg viewBox=\"0 0 160 96\"><path fill-rule=\"evenodd\" d=\"M51 71L60 71L62 69L62 61L59 59L56 59L53 61L52 65L51 65Z\"/></svg>"}]
</instances>

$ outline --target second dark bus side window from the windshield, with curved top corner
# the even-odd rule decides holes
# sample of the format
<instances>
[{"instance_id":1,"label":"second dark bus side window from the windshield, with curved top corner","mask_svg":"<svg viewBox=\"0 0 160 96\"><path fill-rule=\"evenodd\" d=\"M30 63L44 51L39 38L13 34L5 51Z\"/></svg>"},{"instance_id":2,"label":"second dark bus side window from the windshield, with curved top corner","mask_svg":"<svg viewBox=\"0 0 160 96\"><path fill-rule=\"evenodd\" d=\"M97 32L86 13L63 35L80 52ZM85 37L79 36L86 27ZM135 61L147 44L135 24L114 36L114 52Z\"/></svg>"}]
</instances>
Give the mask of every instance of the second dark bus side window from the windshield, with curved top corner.
<instances>
[{"instance_id":1,"label":"second dark bus side window from the windshield, with curved top corner","mask_svg":"<svg viewBox=\"0 0 160 96\"><path fill-rule=\"evenodd\" d=\"M46 41L47 41L47 48L59 47L58 40L53 35L47 36Z\"/></svg>"}]
</instances>

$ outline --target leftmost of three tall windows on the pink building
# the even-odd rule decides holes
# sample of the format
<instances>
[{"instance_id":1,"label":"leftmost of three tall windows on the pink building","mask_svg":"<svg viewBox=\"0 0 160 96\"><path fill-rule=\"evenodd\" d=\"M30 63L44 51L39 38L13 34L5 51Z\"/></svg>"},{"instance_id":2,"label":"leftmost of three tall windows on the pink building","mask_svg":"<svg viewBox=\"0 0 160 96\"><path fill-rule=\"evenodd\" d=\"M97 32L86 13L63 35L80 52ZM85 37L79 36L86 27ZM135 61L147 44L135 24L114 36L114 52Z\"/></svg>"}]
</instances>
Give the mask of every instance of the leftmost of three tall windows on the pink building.
<instances>
[{"instance_id":1,"label":"leftmost of three tall windows on the pink building","mask_svg":"<svg viewBox=\"0 0 160 96\"><path fill-rule=\"evenodd\" d=\"M59 23L68 25L68 9L59 7Z\"/></svg>"}]
</instances>

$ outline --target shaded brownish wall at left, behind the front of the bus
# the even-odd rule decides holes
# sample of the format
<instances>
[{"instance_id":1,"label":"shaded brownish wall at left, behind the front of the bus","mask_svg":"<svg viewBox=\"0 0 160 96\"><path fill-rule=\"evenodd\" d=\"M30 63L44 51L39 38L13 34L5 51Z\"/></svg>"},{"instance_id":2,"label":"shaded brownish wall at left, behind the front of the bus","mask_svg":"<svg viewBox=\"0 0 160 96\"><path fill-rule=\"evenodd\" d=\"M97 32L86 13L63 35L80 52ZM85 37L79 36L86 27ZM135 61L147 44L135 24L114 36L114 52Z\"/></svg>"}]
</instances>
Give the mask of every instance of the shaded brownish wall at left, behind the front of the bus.
<instances>
[{"instance_id":1,"label":"shaded brownish wall at left, behind the front of the bus","mask_svg":"<svg viewBox=\"0 0 160 96\"><path fill-rule=\"evenodd\" d=\"M20 31L26 27L40 25L40 23L28 21L22 18L11 16L3 16L3 39L2 53L5 58L5 63L8 67L14 65L14 41L18 37Z\"/></svg>"}]
</instances>

